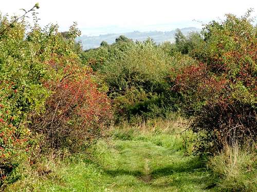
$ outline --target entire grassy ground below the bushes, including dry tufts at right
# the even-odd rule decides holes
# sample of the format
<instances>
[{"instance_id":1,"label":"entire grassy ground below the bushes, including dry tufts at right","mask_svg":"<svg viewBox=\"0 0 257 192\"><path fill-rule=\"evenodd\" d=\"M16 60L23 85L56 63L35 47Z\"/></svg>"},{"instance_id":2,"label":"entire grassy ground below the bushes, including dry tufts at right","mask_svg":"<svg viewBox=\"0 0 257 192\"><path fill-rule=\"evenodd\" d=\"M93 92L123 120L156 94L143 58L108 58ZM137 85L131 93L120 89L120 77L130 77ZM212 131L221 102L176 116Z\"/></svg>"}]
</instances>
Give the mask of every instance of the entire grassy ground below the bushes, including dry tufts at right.
<instances>
[{"instance_id":1,"label":"entire grassy ground below the bushes, including dry tufts at right","mask_svg":"<svg viewBox=\"0 0 257 192\"><path fill-rule=\"evenodd\" d=\"M183 122L123 124L90 156L45 158L20 170L22 179L6 191L254 191L256 152L227 147L209 159L193 156L193 134L179 134ZM187 146L187 147L186 147ZM186 150L187 148L187 150ZM51 170L47 173L47 170ZM43 174L42 174L43 173Z\"/></svg>"}]
</instances>

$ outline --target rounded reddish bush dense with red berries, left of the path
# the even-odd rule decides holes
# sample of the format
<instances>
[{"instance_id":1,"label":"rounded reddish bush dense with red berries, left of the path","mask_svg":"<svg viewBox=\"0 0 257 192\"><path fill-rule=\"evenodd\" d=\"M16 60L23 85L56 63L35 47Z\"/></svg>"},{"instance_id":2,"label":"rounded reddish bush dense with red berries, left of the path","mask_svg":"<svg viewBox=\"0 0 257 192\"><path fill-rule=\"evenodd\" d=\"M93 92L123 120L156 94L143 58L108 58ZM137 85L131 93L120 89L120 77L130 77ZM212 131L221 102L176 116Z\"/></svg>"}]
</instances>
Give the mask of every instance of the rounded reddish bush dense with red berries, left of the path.
<instances>
[{"instance_id":1,"label":"rounded reddish bush dense with red berries, left of the path","mask_svg":"<svg viewBox=\"0 0 257 192\"><path fill-rule=\"evenodd\" d=\"M44 135L43 150L79 152L102 136L112 118L111 102L98 91L90 68L71 63L62 73L61 79L45 82L52 94L46 100L45 112L33 114L29 127Z\"/></svg>"}]
</instances>

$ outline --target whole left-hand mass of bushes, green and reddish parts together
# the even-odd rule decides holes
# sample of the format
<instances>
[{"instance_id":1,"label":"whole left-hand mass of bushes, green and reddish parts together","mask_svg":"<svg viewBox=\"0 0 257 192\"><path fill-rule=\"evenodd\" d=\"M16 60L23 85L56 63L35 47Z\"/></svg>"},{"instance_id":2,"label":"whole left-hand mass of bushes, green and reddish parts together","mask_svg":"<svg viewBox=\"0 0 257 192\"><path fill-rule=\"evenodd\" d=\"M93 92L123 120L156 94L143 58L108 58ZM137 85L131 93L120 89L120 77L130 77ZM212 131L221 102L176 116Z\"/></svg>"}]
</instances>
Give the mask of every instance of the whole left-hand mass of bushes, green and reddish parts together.
<instances>
[{"instance_id":1,"label":"whole left-hand mass of bushes, green and reddish parts together","mask_svg":"<svg viewBox=\"0 0 257 192\"><path fill-rule=\"evenodd\" d=\"M26 14L38 8L35 5ZM83 66L75 37L57 25L41 28L24 17L0 17L0 184L14 182L23 161L50 150L77 152L101 137L111 104Z\"/></svg>"}]
</instances>

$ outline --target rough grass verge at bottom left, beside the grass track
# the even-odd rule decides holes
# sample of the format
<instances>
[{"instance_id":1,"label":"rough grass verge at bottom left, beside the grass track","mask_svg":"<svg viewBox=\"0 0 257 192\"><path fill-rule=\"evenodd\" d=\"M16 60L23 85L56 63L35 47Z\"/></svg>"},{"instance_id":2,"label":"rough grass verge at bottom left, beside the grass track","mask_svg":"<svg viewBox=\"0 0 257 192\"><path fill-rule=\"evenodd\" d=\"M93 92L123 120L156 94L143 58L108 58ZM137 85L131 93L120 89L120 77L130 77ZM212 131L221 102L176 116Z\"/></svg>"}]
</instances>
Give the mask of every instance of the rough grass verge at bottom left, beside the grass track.
<instances>
[{"instance_id":1,"label":"rough grass verge at bottom left, beside the grass track","mask_svg":"<svg viewBox=\"0 0 257 192\"><path fill-rule=\"evenodd\" d=\"M101 168L84 155L47 158L26 166L22 178L5 191L103 191Z\"/></svg>"}]
</instances>

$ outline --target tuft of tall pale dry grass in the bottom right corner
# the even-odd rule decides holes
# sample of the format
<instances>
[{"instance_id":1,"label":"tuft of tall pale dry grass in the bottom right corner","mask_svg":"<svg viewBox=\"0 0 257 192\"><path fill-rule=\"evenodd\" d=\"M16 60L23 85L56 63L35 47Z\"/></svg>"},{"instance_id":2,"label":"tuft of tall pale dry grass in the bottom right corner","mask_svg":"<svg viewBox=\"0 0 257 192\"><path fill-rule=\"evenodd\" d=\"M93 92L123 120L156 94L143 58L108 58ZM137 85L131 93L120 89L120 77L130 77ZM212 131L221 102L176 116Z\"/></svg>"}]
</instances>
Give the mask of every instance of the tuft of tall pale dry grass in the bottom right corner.
<instances>
[{"instance_id":1,"label":"tuft of tall pale dry grass in the bottom right corner","mask_svg":"<svg viewBox=\"0 0 257 192\"><path fill-rule=\"evenodd\" d=\"M257 191L257 150L253 145L225 145L223 152L209 161L214 174L220 178L217 190Z\"/></svg>"}]
</instances>

